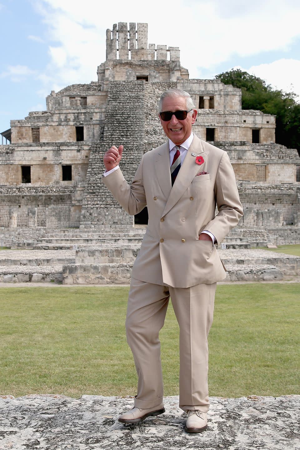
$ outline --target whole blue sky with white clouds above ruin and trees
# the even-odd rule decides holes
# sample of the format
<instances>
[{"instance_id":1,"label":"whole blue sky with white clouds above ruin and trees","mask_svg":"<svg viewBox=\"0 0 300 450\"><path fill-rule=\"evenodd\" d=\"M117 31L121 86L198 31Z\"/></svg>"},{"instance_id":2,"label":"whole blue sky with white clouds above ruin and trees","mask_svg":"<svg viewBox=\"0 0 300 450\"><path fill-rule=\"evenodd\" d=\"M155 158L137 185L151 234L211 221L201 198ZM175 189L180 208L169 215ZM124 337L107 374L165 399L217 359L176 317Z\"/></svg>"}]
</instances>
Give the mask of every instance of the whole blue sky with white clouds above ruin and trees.
<instances>
[{"instance_id":1,"label":"whole blue sky with white clouds above ruin and trees","mask_svg":"<svg viewBox=\"0 0 300 450\"><path fill-rule=\"evenodd\" d=\"M96 81L118 22L178 46L190 78L241 68L300 95L300 0L0 0L0 132L45 110L51 90Z\"/></svg>"}]
</instances>

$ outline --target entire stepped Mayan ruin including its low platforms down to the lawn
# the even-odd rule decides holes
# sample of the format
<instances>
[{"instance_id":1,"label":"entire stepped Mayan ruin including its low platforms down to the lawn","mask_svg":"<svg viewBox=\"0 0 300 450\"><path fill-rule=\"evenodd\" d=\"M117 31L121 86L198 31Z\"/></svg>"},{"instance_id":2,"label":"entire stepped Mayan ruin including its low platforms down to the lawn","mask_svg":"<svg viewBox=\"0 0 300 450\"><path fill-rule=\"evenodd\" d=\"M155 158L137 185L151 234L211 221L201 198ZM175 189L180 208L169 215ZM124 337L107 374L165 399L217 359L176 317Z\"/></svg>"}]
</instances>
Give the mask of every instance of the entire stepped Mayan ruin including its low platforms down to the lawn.
<instances>
[{"instance_id":1,"label":"entire stepped Mayan ruin including its low platforms down to the lawn","mask_svg":"<svg viewBox=\"0 0 300 450\"><path fill-rule=\"evenodd\" d=\"M117 204L101 181L103 153L124 144L121 169L130 182L143 153L166 141L157 104L175 87L197 106L194 133L226 150L236 175L244 217L220 249L228 281L239 270L250 280L299 273L297 257L275 261L250 250L300 243L300 157L275 144L275 116L243 110L242 92L232 85L190 79L178 47L148 44L147 23L114 24L106 49L97 81L51 91L46 111L13 119L1 133L1 242L33 252L23 257L27 264L2 261L1 280L128 282L147 210L129 216Z\"/></svg>"}]
</instances>

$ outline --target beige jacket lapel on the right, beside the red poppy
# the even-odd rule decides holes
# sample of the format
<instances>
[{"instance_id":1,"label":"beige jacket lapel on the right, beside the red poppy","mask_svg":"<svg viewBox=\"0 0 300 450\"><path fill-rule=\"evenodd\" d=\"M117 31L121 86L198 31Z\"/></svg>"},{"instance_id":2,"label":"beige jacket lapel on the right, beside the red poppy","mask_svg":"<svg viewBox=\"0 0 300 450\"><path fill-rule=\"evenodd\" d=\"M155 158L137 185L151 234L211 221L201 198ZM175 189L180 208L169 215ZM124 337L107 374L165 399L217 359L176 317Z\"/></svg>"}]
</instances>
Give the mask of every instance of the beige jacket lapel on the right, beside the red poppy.
<instances>
[{"instance_id":1,"label":"beige jacket lapel on the right, beside the red poppy","mask_svg":"<svg viewBox=\"0 0 300 450\"><path fill-rule=\"evenodd\" d=\"M161 217L165 216L167 212L169 212L170 209L175 205L175 203L178 202L179 198L183 196L184 192L188 189L188 186L191 184L193 178L196 176L197 172L200 169L200 165L196 164L196 157L191 155L191 153L193 152L197 155L201 155L204 160L209 153L204 153L201 141L199 138L197 138L197 136L194 136L193 142L188 148L188 153L185 155L184 162L180 167L174 186L170 190L170 195Z\"/></svg>"}]
</instances>

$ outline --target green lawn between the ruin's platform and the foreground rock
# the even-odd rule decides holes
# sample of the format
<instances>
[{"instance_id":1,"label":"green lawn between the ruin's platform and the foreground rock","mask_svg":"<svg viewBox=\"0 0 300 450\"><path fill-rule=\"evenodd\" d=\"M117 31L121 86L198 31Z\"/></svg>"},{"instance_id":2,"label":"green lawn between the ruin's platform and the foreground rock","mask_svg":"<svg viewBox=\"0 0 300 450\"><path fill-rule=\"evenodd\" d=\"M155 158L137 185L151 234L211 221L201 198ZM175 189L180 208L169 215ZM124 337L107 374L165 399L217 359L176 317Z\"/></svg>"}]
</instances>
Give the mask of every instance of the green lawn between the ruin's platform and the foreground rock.
<instances>
[{"instance_id":1,"label":"green lawn between the ruin's platform and the foreground rock","mask_svg":"<svg viewBox=\"0 0 300 450\"><path fill-rule=\"evenodd\" d=\"M211 396L299 394L299 284L220 285L209 335ZM127 287L0 288L0 394L134 395ZM178 394L179 329L161 331L165 395Z\"/></svg>"}]
</instances>

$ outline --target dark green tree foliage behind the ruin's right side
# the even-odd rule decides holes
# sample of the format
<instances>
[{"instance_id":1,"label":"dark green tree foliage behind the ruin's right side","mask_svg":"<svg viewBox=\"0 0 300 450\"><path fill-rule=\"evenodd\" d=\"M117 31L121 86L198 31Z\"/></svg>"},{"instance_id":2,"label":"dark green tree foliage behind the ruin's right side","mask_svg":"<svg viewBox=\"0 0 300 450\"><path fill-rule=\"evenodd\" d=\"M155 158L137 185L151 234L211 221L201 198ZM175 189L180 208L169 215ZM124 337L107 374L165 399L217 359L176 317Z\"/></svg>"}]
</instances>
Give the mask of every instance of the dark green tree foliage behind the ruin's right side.
<instances>
[{"instance_id":1,"label":"dark green tree foliage behind the ruin's right side","mask_svg":"<svg viewBox=\"0 0 300 450\"><path fill-rule=\"evenodd\" d=\"M261 78L240 69L220 73L216 78L242 89L242 109L276 115L276 142L297 148L300 154L300 104L294 92L273 89Z\"/></svg>"}]
</instances>

